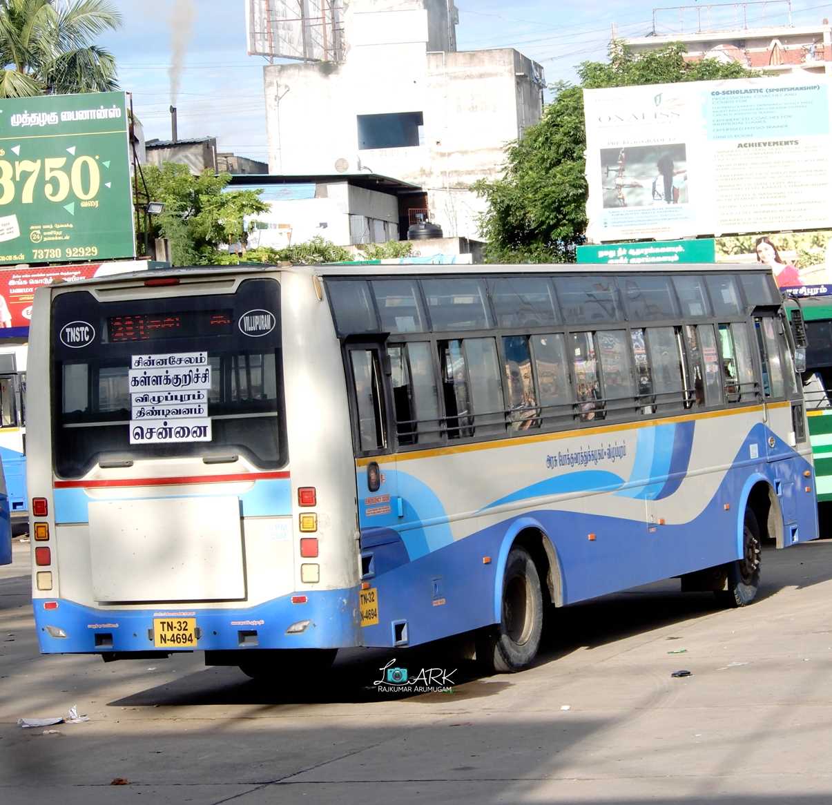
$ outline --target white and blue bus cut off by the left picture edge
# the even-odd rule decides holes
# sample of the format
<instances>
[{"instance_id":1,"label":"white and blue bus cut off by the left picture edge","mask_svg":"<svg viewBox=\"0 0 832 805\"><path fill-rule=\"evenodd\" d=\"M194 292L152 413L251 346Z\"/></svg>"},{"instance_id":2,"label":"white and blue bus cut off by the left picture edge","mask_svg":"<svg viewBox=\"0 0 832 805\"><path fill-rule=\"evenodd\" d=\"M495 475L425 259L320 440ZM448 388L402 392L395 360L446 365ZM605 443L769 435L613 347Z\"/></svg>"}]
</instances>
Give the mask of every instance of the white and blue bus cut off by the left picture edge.
<instances>
[{"instance_id":1,"label":"white and blue bus cut off by the left picture edge","mask_svg":"<svg viewBox=\"0 0 832 805\"><path fill-rule=\"evenodd\" d=\"M25 338L4 338L0 342L0 458L15 533L24 533L28 528L26 355Z\"/></svg>"}]
</instances>

